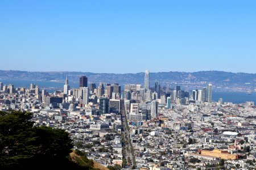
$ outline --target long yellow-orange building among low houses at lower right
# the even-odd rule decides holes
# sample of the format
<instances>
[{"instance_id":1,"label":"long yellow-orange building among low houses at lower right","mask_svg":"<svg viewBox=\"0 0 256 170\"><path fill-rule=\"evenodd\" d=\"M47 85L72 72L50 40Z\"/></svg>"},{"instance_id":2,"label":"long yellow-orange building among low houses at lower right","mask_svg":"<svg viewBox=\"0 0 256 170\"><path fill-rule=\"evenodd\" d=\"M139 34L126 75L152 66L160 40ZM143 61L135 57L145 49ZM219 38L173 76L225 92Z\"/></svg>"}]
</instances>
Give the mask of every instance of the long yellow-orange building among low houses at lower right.
<instances>
[{"instance_id":1,"label":"long yellow-orange building among low houses at lower right","mask_svg":"<svg viewBox=\"0 0 256 170\"><path fill-rule=\"evenodd\" d=\"M229 159L229 160L238 159L238 155L229 154L227 151L217 150L217 149L213 151L203 150L201 151L201 155L214 156L215 158Z\"/></svg>"}]
</instances>

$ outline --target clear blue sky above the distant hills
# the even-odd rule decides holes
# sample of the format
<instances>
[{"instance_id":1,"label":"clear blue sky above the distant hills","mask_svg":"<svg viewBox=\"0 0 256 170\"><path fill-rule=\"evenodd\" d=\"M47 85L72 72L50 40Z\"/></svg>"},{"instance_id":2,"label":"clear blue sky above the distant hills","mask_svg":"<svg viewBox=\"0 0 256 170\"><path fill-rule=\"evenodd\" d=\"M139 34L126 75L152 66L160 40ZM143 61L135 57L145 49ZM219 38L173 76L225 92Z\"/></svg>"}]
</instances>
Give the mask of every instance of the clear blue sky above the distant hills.
<instances>
[{"instance_id":1,"label":"clear blue sky above the distant hills","mask_svg":"<svg viewBox=\"0 0 256 170\"><path fill-rule=\"evenodd\" d=\"M256 73L256 1L0 1L0 70Z\"/></svg>"}]
</instances>

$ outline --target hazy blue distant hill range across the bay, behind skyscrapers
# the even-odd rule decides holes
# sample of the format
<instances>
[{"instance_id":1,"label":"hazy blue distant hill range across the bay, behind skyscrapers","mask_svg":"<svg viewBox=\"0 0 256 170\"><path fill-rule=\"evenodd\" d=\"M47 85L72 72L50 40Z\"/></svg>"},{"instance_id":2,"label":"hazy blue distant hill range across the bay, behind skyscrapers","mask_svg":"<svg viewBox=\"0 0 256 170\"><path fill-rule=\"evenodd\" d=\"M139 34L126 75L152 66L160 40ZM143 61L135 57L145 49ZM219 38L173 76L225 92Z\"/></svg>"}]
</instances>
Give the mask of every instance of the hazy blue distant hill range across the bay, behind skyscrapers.
<instances>
[{"instance_id":1,"label":"hazy blue distant hill range across the bay, behind skyscrapers","mask_svg":"<svg viewBox=\"0 0 256 170\"><path fill-rule=\"evenodd\" d=\"M56 81L64 82L68 75L69 82L79 82L79 76L88 77L89 83L119 83L119 84L144 84L144 73L89 73L89 72L68 72L68 71L16 71L0 70L0 79L6 80L36 80L36 81ZM213 83L214 88L220 90L254 90L256 88L256 74L230 73L225 71L198 71L194 73L185 72L159 72L150 73L151 86L157 80L162 86L174 87L177 84L184 87L205 87L208 83Z\"/></svg>"}]
</instances>

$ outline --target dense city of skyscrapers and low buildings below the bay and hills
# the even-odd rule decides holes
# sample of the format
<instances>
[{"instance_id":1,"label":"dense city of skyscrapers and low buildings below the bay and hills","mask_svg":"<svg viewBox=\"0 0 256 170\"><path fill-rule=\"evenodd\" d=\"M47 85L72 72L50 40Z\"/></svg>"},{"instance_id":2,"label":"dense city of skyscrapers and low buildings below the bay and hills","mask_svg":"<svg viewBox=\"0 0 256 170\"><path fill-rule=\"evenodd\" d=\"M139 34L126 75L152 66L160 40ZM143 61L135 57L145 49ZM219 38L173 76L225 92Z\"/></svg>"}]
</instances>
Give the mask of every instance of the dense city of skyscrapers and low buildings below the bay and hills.
<instances>
[{"instance_id":1,"label":"dense city of skyscrapers and low buildings below the bay and hills","mask_svg":"<svg viewBox=\"0 0 256 170\"><path fill-rule=\"evenodd\" d=\"M91 80L93 81L93 80ZM212 101L213 85L180 86L95 83L52 93L0 82L0 111L34 113L35 126L65 129L74 149L89 159L123 169L255 169L256 109Z\"/></svg>"}]
</instances>

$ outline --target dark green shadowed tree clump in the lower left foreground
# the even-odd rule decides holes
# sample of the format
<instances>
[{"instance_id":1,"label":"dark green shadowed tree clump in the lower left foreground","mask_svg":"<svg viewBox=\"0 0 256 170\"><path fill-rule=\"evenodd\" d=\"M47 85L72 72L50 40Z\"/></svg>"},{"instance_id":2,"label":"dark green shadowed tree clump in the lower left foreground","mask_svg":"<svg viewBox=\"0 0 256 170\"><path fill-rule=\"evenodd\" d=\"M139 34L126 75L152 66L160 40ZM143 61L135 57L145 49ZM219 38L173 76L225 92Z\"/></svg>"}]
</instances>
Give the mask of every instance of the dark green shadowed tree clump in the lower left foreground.
<instances>
[{"instance_id":1,"label":"dark green shadowed tree clump in the lower left foreground","mask_svg":"<svg viewBox=\"0 0 256 170\"><path fill-rule=\"evenodd\" d=\"M63 129L36 127L30 112L0 111L0 169L75 167L72 140Z\"/></svg>"}]
</instances>

